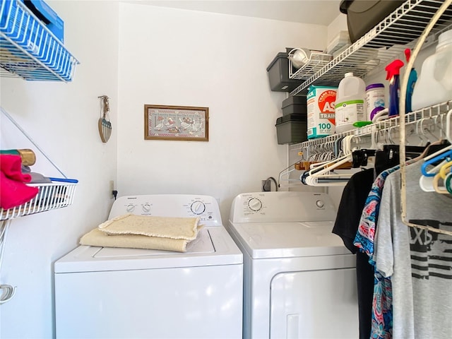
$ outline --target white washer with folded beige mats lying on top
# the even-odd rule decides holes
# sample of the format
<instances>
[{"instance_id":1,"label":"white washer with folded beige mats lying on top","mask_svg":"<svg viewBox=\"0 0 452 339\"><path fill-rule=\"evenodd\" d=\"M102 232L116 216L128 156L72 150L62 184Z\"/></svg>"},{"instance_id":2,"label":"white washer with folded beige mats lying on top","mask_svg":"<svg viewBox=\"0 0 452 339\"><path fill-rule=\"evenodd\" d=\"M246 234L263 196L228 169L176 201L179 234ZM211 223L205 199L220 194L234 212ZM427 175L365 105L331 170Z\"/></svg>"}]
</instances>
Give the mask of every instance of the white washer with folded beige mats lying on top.
<instances>
[{"instance_id":1,"label":"white washer with folded beige mats lying on top","mask_svg":"<svg viewBox=\"0 0 452 339\"><path fill-rule=\"evenodd\" d=\"M54 264L57 338L242 338L243 257L211 196L122 196L125 213L201 217L186 253L78 246Z\"/></svg>"}]
</instances>

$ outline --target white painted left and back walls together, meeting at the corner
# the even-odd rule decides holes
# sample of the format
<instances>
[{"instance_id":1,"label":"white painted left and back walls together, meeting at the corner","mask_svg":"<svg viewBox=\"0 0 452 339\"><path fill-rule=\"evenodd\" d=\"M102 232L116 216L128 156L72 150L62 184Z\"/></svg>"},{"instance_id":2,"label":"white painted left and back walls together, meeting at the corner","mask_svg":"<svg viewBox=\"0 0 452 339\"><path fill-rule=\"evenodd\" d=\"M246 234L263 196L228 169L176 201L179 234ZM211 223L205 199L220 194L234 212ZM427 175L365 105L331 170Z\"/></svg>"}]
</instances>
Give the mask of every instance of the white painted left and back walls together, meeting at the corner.
<instances>
[{"instance_id":1,"label":"white painted left and back walls together, meeting at the corner","mask_svg":"<svg viewBox=\"0 0 452 339\"><path fill-rule=\"evenodd\" d=\"M11 224L0 283L17 293L0 307L5 339L54 336L53 263L107 218L109 180L122 195L213 195L227 220L236 194L259 191L261 179L276 177L287 162L274 126L285 93L270 91L266 67L285 47L326 45L323 26L117 1L49 4L64 19L66 47L81 61L75 78L1 78L1 107L80 184L73 206ZM107 144L97 132L97 96L104 94L114 128ZM209 107L210 141L144 141L145 104ZM0 121L1 148L33 148ZM35 172L59 175L37 158Z\"/></svg>"}]
</instances>

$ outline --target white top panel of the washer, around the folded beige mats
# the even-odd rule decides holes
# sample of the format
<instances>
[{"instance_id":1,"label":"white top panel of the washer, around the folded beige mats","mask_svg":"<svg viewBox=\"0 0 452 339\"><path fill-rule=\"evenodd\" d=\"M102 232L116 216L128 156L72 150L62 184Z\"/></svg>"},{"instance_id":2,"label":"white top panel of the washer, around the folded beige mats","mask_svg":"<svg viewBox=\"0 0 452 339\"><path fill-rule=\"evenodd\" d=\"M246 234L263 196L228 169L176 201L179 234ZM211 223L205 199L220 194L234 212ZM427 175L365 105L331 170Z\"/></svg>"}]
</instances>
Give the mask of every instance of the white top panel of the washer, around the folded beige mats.
<instances>
[{"instance_id":1,"label":"white top panel of the washer, around the folded beige mats","mask_svg":"<svg viewBox=\"0 0 452 339\"><path fill-rule=\"evenodd\" d=\"M242 264L243 256L224 227L204 227L186 252L78 246L54 264L55 273L143 270Z\"/></svg>"}]
</instances>

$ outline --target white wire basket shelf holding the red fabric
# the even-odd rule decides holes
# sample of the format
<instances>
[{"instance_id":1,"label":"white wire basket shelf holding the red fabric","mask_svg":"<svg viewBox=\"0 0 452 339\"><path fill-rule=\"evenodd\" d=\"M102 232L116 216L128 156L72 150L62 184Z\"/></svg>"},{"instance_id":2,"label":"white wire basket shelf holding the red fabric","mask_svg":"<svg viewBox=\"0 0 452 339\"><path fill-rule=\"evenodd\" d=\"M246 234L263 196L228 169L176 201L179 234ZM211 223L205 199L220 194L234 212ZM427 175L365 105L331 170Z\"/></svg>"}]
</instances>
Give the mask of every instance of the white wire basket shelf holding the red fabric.
<instances>
[{"instance_id":1,"label":"white wire basket shelf holding the red fabric","mask_svg":"<svg viewBox=\"0 0 452 339\"><path fill-rule=\"evenodd\" d=\"M5 210L0 208L0 220L9 220L24 215L64 208L73 203L76 193L76 183L49 183L49 184L28 184L39 189L35 198L23 203L20 206Z\"/></svg>"}]
</instances>

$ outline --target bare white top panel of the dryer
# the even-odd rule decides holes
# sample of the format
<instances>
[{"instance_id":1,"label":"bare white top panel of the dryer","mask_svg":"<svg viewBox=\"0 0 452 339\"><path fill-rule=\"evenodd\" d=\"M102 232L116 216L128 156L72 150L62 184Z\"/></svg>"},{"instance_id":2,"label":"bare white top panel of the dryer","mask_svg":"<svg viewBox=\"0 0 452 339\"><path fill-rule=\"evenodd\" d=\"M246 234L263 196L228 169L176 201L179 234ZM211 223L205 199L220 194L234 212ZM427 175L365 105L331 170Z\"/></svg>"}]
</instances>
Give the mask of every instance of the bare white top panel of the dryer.
<instances>
[{"instance_id":1,"label":"bare white top panel of the dryer","mask_svg":"<svg viewBox=\"0 0 452 339\"><path fill-rule=\"evenodd\" d=\"M333 234L333 221L232 223L232 232L251 258L350 254Z\"/></svg>"}]
</instances>

